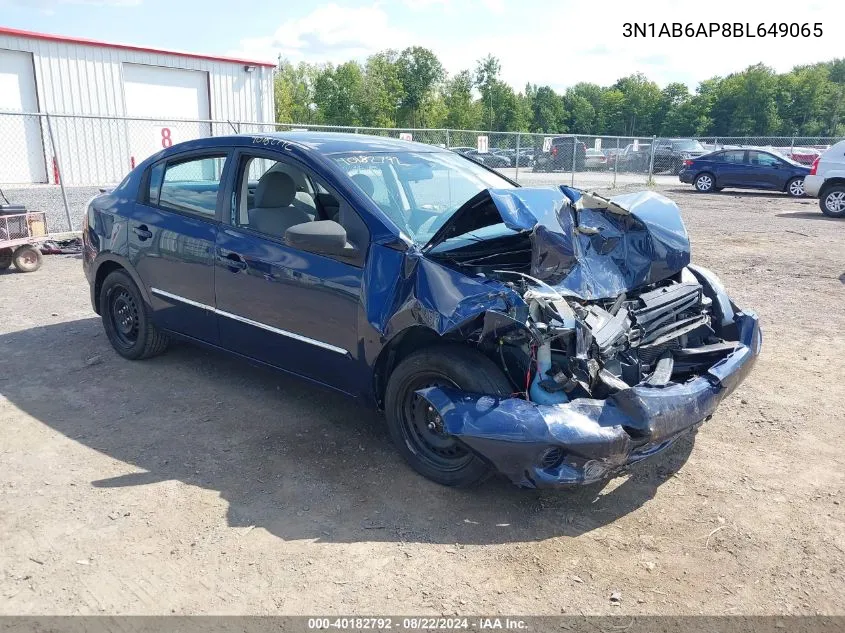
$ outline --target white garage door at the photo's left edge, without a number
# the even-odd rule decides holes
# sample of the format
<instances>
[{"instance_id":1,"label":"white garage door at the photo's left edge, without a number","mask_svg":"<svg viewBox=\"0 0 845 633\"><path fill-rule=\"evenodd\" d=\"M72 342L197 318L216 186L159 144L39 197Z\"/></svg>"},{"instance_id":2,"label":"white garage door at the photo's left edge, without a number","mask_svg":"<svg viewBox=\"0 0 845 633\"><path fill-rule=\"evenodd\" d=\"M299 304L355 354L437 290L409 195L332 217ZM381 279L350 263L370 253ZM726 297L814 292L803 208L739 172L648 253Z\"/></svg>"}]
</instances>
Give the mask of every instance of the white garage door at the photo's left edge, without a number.
<instances>
[{"instance_id":1,"label":"white garage door at the photo's left edge, without a number","mask_svg":"<svg viewBox=\"0 0 845 633\"><path fill-rule=\"evenodd\" d=\"M0 49L0 110L38 112L32 54ZM0 117L0 184L47 182L38 117Z\"/></svg>"}]
</instances>

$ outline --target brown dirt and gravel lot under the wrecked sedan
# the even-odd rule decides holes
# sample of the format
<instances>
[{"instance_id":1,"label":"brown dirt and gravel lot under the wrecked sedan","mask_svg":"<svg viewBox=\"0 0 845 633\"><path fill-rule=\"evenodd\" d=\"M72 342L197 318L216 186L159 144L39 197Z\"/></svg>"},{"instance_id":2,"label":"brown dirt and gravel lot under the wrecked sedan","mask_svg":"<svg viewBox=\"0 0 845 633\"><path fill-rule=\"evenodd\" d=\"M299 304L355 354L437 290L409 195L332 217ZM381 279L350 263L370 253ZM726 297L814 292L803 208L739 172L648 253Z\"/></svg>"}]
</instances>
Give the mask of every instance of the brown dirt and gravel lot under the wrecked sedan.
<instances>
[{"instance_id":1,"label":"brown dirt and gravel lot under the wrecked sedan","mask_svg":"<svg viewBox=\"0 0 845 633\"><path fill-rule=\"evenodd\" d=\"M74 257L0 275L0 613L843 613L845 222L663 191L764 351L603 488L439 487L339 396L186 345L122 360Z\"/></svg>"}]
</instances>

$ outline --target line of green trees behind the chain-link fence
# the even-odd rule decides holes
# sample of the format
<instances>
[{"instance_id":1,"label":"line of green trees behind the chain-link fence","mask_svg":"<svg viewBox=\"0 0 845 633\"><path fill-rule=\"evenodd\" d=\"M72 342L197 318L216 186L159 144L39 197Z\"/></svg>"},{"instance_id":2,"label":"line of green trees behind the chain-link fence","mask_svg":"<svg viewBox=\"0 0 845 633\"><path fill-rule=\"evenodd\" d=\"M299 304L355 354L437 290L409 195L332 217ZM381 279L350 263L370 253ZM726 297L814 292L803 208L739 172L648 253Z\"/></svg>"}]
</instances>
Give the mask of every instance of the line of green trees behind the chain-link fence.
<instances>
[{"instance_id":1,"label":"line of green trees behind the chain-link fence","mask_svg":"<svg viewBox=\"0 0 845 633\"><path fill-rule=\"evenodd\" d=\"M291 62L275 77L276 120L361 127L618 136L843 136L845 59L776 73L764 64L661 89L642 73L611 86L516 92L488 55L449 76L429 49L385 50L363 64Z\"/></svg>"}]
</instances>

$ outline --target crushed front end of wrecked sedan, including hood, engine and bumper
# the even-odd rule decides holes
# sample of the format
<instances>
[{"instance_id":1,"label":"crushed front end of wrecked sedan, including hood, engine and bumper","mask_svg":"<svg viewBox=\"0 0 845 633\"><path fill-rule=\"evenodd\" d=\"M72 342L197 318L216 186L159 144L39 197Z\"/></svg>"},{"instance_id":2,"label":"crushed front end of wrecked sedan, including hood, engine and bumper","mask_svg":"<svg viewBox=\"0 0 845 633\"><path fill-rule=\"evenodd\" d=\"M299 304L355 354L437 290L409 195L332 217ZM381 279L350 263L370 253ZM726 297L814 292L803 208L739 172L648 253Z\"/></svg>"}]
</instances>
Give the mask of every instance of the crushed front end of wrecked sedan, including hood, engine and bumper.
<instances>
[{"instance_id":1,"label":"crushed front end of wrecked sedan, including hood, engine and bumper","mask_svg":"<svg viewBox=\"0 0 845 633\"><path fill-rule=\"evenodd\" d=\"M525 487L600 481L665 449L712 416L762 342L757 317L689 264L686 232L665 198L564 194L540 196L554 203L533 224L531 193L491 195L514 240L530 242L530 262L501 243L490 256L478 244L447 251L452 265L522 298L467 332L498 359L514 393L418 392L445 433Z\"/></svg>"}]
</instances>

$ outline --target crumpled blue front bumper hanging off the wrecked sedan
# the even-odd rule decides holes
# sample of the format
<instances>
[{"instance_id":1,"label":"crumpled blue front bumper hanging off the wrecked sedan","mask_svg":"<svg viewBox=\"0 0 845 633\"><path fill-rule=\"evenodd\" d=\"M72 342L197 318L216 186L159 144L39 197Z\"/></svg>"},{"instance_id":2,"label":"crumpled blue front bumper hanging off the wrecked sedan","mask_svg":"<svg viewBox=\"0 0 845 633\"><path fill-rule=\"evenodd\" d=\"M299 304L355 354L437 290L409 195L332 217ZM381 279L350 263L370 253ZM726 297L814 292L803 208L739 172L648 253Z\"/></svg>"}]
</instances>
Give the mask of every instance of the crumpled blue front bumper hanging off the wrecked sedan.
<instances>
[{"instance_id":1,"label":"crumpled blue front bumper hanging off the wrecked sedan","mask_svg":"<svg viewBox=\"0 0 845 633\"><path fill-rule=\"evenodd\" d=\"M539 405L456 389L419 391L445 430L515 484L571 486L608 479L710 418L751 371L762 345L757 316L736 313L739 343L706 374L683 384L637 385L605 400Z\"/></svg>"}]
</instances>

